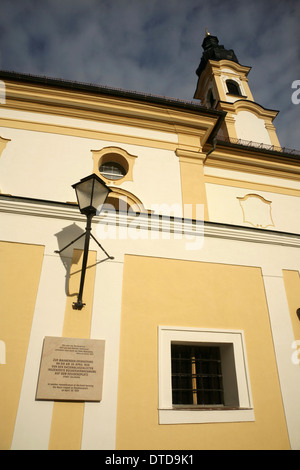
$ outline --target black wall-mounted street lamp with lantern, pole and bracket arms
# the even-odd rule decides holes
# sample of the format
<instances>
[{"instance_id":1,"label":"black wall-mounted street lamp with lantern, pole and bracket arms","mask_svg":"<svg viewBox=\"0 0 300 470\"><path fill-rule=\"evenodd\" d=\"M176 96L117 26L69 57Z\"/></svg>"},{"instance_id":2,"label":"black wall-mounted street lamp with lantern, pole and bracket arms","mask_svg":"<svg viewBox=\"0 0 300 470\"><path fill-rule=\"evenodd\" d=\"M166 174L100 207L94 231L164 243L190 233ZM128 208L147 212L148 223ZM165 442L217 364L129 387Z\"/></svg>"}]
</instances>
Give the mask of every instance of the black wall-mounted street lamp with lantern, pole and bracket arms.
<instances>
[{"instance_id":1,"label":"black wall-mounted street lamp with lantern, pole and bracket arms","mask_svg":"<svg viewBox=\"0 0 300 470\"><path fill-rule=\"evenodd\" d=\"M82 302L82 294L83 294L83 286L84 286L84 279L86 273L86 265L87 265L87 258L89 252L89 243L90 237L92 237L98 246L104 251L109 259L114 259L112 256L109 256L104 248L100 245L100 243L96 240L96 238L91 233L91 225L92 225L92 218L96 213L100 212L102 209L103 204L106 201L108 194L111 192L111 189L106 186L104 181L99 178L97 175L92 174L87 176L86 178L81 179L78 183L73 184L72 188L76 191L77 201L79 210L82 214L84 214L87 218L86 229L83 234L65 246L62 250L56 251L55 253L61 253L67 247L75 243L79 240L83 235L85 235L85 242L84 242L84 251L83 251L83 260L82 260L82 270L81 270L81 279L80 279L80 287L77 302L73 302L73 308L75 310L81 310L84 307L84 303Z\"/></svg>"}]
</instances>

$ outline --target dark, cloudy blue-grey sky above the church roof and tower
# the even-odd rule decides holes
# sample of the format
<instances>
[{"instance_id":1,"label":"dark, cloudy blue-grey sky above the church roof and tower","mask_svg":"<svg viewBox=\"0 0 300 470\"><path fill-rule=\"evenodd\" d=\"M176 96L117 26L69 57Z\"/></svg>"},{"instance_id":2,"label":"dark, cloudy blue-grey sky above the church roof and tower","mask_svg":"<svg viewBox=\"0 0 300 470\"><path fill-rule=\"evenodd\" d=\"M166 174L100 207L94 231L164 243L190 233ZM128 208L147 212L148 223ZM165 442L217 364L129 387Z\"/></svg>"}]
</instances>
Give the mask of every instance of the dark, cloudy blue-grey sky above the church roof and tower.
<instances>
[{"instance_id":1,"label":"dark, cloudy blue-grey sky above the church roof and tower","mask_svg":"<svg viewBox=\"0 0 300 470\"><path fill-rule=\"evenodd\" d=\"M205 27L300 149L299 0L0 0L0 69L192 100Z\"/></svg>"}]
</instances>

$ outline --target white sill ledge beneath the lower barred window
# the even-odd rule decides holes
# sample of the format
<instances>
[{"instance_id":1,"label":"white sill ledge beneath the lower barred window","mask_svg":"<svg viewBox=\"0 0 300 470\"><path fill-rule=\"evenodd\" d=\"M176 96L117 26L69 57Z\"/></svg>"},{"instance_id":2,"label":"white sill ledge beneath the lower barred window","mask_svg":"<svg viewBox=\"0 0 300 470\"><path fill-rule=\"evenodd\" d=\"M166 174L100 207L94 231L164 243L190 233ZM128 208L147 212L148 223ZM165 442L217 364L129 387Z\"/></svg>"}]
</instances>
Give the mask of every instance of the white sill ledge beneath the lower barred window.
<instances>
[{"instance_id":1,"label":"white sill ledge beneath the lower barred window","mask_svg":"<svg viewBox=\"0 0 300 470\"><path fill-rule=\"evenodd\" d=\"M172 407L159 409L159 424L234 423L255 421L253 408Z\"/></svg>"}]
</instances>

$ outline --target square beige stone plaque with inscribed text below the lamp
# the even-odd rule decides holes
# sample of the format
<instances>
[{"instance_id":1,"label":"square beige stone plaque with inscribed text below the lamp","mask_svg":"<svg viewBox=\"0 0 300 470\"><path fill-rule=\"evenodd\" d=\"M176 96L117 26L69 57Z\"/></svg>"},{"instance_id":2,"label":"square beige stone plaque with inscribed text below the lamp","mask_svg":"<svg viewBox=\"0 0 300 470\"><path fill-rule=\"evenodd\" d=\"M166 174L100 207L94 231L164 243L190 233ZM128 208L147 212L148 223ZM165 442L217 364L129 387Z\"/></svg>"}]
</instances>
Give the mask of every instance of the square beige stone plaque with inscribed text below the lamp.
<instances>
[{"instance_id":1,"label":"square beige stone plaque with inscribed text below the lamp","mask_svg":"<svg viewBox=\"0 0 300 470\"><path fill-rule=\"evenodd\" d=\"M101 401L104 340L44 339L36 400Z\"/></svg>"}]
</instances>

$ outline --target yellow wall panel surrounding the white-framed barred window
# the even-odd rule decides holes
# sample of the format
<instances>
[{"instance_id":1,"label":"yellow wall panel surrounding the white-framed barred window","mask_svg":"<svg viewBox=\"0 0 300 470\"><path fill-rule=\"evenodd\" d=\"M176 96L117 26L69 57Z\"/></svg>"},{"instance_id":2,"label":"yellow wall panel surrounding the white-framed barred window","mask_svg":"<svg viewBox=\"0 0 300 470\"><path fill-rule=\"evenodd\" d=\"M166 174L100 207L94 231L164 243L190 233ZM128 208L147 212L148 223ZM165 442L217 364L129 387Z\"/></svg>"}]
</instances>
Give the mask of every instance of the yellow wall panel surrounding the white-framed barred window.
<instances>
[{"instance_id":1,"label":"yellow wall panel surrounding the white-framed barred window","mask_svg":"<svg viewBox=\"0 0 300 470\"><path fill-rule=\"evenodd\" d=\"M158 325L243 330L254 422L158 424ZM259 268L126 256L117 449L288 449Z\"/></svg>"}]
</instances>

